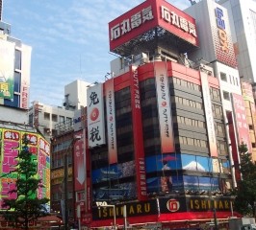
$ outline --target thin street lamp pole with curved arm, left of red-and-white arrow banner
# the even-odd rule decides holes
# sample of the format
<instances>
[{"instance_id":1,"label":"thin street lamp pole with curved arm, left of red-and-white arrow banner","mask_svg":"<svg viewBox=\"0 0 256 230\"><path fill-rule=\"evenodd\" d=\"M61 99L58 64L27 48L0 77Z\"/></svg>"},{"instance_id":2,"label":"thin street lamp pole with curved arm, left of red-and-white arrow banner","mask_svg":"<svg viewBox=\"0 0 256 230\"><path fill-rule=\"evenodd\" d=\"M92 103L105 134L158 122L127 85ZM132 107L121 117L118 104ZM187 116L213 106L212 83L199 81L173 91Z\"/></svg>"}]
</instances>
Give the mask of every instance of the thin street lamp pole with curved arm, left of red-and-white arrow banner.
<instances>
[{"instance_id":1,"label":"thin street lamp pole with curved arm, left of red-and-white arrow banner","mask_svg":"<svg viewBox=\"0 0 256 230\"><path fill-rule=\"evenodd\" d=\"M68 208L67 208L67 200L68 200L68 153L70 147L73 147L75 141L80 140L81 136L74 136L71 143L67 147L64 152L64 230L68 230Z\"/></svg>"}]
</instances>

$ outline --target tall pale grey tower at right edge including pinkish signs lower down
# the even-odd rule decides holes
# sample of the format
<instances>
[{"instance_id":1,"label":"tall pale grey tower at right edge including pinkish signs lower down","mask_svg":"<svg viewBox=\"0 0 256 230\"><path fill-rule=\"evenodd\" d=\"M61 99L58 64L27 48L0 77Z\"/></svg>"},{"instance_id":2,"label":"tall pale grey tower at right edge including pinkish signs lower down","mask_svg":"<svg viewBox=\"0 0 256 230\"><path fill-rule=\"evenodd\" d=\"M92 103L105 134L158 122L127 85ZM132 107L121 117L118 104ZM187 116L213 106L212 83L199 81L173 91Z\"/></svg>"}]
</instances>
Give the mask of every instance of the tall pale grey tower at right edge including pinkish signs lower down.
<instances>
[{"instance_id":1,"label":"tall pale grey tower at right edge including pinkish signs lower down","mask_svg":"<svg viewBox=\"0 0 256 230\"><path fill-rule=\"evenodd\" d=\"M219 0L218 4L225 7L228 11L232 40L238 60L239 75L243 82L243 100L245 102L247 123L250 129L252 158L255 162L256 67L254 62L256 55L253 50L256 49L256 2L254 0L248 0L244 4L240 0Z\"/></svg>"}]
</instances>

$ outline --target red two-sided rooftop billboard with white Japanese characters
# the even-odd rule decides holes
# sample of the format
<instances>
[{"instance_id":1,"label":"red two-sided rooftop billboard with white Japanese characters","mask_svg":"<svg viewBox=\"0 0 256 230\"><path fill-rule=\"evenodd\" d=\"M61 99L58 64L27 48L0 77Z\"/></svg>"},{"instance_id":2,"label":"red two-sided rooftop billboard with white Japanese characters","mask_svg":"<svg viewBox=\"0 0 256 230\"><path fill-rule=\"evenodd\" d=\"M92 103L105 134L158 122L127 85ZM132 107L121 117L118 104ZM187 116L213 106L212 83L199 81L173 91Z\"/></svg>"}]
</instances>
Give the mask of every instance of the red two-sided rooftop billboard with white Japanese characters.
<instances>
[{"instance_id":1,"label":"red two-sided rooftop billboard with white Japanese characters","mask_svg":"<svg viewBox=\"0 0 256 230\"><path fill-rule=\"evenodd\" d=\"M111 51L156 27L198 46L195 20L164 0L147 0L109 23Z\"/></svg>"}]
</instances>

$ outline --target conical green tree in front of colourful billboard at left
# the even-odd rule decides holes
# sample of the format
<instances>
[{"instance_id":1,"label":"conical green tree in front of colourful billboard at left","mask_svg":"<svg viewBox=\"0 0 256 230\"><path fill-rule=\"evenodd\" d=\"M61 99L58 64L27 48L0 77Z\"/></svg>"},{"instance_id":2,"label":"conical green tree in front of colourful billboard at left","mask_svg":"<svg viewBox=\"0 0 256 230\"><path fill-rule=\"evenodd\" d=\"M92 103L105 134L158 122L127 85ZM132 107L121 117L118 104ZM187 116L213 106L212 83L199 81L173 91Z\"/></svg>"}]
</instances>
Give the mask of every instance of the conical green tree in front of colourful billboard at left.
<instances>
[{"instance_id":1,"label":"conical green tree in front of colourful billboard at left","mask_svg":"<svg viewBox=\"0 0 256 230\"><path fill-rule=\"evenodd\" d=\"M13 227L29 229L29 221L37 220L47 215L45 204L48 198L39 199L37 191L43 187L37 178L38 164L33 154L29 151L29 140L25 134L22 140L22 150L19 151L16 169L17 173L15 189L9 193L15 193L16 199L4 199L4 207L7 208L3 214L4 218L13 223Z\"/></svg>"}]
</instances>

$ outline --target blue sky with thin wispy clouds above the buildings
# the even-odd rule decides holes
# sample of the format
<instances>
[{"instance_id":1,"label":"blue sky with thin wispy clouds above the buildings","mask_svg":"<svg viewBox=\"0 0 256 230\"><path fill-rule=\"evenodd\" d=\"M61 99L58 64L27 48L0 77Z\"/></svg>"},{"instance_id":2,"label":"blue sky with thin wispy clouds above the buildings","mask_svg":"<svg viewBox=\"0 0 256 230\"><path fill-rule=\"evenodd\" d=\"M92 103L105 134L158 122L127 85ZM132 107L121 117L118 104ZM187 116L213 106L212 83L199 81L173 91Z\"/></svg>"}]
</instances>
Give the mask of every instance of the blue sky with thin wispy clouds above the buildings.
<instances>
[{"instance_id":1,"label":"blue sky with thin wispy clouds above the buildings","mask_svg":"<svg viewBox=\"0 0 256 230\"><path fill-rule=\"evenodd\" d=\"M108 23L143 0L4 0L12 36L32 46L30 102L62 105L64 85L104 81L110 71ZM184 10L189 0L168 0ZM121 3L121 4L120 4Z\"/></svg>"}]
</instances>

